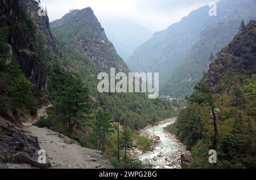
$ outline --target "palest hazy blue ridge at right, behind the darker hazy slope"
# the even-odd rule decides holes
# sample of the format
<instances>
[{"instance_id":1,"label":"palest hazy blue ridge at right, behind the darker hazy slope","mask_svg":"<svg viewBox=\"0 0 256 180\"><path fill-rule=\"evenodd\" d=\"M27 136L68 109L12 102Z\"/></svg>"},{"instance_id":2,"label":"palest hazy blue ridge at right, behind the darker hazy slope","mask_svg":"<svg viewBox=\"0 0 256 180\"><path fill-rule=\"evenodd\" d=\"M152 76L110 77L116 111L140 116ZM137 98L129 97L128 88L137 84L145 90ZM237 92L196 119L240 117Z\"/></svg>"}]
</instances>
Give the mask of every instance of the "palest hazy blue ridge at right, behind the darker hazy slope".
<instances>
[{"instance_id":1,"label":"palest hazy blue ridge at right, behind the darker hazy slope","mask_svg":"<svg viewBox=\"0 0 256 180\"><path fill-rule=\"evenodd\" d=\"M154 37L135 50L127 65L132 71L159 72L160 91L169 92L168 87L164 89L166 83L171 84L172 73L191 54L191 49L200 40L201 32L210 24L219 23L230 16L254 14L254 2L221 0L217 3L217 16L209 16L208 6L192 11L179 23L155 33ZM249 10L247 7L250 7Z\"/></svg>"}]
</instances>

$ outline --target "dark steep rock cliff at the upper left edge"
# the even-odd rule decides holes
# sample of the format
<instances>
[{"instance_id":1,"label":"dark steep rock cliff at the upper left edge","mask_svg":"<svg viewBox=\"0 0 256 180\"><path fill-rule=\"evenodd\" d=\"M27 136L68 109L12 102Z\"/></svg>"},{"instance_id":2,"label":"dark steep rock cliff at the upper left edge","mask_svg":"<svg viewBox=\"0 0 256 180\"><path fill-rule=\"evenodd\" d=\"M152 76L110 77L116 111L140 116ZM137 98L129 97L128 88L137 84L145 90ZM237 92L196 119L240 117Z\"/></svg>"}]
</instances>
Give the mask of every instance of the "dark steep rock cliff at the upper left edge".
<instances>
[{"instance_id":1,"label":"dark steep rock cliff at the upper left edge","mask_svg":"<svg viewBox=\"0 0 256 180\"><path fill-rule=\"evenodd\" d=\"M7 28L6 43L10 47L10 55L18 61L20 68L39 92L46 86L46 70L37 50L35 24L27 18L26 10L19 1L0 1L1 28Z\"/></svg>"}]
</instances>

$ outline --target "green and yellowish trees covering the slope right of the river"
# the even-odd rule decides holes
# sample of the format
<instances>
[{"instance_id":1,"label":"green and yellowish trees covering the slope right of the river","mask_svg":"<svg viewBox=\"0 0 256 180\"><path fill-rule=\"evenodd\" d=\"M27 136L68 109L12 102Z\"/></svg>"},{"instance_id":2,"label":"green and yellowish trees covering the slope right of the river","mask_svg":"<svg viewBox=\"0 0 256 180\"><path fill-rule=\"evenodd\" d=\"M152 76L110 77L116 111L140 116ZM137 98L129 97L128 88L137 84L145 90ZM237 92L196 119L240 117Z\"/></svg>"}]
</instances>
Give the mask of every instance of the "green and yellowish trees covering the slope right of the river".
<instances>
[{"instance_id":1,"label":"green and yellowish trees covering the slope right of the river","mask_svg":"<svg viewBox=\"0 0 256 180\"><path fill-rule=\"evenodd\" d=\"M208 162L208 151L212 149L214 130L212 127L212 110L209 105L214 102L214 112L218 118L217 168L255 168L256 127L255 127L255 75L251 77L233 76L229 79L243 79L230 88L229 92L202 94L210 92L197 85L189 100L195 100L181 110L177 122L167 130L174 132L192 149L194 161L189 168L213 168ZM222 78L225 81L225 78ZM223 84L223 88L227 84ZM200 105L201 104L201 105Z\"/></svg>"}]
</instances>

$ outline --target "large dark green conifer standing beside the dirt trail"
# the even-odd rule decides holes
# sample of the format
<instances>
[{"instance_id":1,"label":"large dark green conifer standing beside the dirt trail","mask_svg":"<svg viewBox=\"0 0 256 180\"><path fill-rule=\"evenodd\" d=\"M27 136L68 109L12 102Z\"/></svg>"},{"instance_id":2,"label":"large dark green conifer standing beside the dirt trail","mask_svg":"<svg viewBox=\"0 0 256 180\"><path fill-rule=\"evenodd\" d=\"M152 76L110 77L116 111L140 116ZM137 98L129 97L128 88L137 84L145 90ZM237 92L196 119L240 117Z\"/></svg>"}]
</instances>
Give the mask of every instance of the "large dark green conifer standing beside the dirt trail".
<instances>
[{"instance_id":1,"label":"large dark green conifer standing beside the dirt trail","mask_svg":"<svg viewBox=\"0 0 256 180\"><path fill-rule=\"evenodd\" d=\"M73 128L86 119L86 113L90 113L88 88L80 76L72 76L56 62L49 75L48 91L53 100L54 118L68 123L67 131L72 136Z\"/></svg>"}]
</instances>

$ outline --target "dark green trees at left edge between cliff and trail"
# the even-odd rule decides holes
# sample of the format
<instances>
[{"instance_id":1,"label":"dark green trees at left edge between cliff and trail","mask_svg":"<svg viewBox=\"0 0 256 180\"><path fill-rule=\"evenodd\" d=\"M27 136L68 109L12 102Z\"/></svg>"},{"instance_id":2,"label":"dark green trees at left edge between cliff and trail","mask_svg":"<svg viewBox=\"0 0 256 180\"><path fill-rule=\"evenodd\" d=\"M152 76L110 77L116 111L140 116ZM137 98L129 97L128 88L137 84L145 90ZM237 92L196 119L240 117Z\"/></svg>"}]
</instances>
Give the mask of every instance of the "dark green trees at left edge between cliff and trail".
<instances>
[{"instance_id":1,"label":"dark green trees at left edge between cliff and trail","mask_svg":"<svg viewBox=\"0 0 256 180\"><path fill-rule=\"evenodd\" d=\"M15 59L9 64L1 60L0 63L0 113L5 114L10 109L14 113L25 110L35 114L38 102L34 98L32 84L22 74Z\"/></svg>"}]
</instances>

